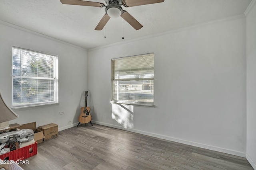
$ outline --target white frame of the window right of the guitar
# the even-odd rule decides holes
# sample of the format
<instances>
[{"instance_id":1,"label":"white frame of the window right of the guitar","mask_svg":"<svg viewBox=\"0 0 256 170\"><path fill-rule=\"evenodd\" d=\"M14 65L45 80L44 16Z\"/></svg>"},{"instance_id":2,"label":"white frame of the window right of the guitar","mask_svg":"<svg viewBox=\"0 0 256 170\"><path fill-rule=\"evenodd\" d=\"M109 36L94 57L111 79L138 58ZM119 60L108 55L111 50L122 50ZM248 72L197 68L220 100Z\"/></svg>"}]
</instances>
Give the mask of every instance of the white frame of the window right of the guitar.
<instances>
[{"instance_id":1,"label":"white frame of the window right of the guitar","mask_svg":"<svg viewBox=\"0 0 256 170\"><path fill-rule=\"evenodd\" d=\"M126 105L132 105L132 106L141 106L141 107L151 107L154 108L154 77L151 78L126 78L126 79L122 79L122 78L115 78L115 66L113 66L113 62L116 60L122 60L122 59L126 59L126 58L135 58L135 57L143 57L146 55L153 55L153 59L155 57L154 53L148 53L148 54L142 54L142 55L134 55L134 56L128 56L128 57L119 57L119 58L114 58L111 59L111 101L110 103L112 104L126 104ZM153 67L154 70L154 67ZM136 74L134 74L136 75ZM116 100L114 99L114 83L115 81L129 81L129 80L152 80L153 82L153 102L141 102L141 101L129 101L129 100ZM133 86L133 85L132 85Z\"/></svg>"}]
</instances>

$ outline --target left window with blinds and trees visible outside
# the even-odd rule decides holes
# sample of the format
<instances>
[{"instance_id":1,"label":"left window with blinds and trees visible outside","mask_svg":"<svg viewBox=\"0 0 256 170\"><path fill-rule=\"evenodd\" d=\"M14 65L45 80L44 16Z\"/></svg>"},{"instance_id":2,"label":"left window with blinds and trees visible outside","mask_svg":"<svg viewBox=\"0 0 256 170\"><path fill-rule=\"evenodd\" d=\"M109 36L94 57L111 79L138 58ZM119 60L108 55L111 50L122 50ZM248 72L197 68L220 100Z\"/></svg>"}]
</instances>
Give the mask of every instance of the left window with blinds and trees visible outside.
<instances>
[{"instance_id":1,"label":"left window with blinds and trees visible outside","mask_svg":"<svg viewBox=\"0 0 256 170\"><path fill-rule=\"evenodd\" d=\"M12 47L12 107L58 103L58 57Z\"/></svg>"}]
</instances>

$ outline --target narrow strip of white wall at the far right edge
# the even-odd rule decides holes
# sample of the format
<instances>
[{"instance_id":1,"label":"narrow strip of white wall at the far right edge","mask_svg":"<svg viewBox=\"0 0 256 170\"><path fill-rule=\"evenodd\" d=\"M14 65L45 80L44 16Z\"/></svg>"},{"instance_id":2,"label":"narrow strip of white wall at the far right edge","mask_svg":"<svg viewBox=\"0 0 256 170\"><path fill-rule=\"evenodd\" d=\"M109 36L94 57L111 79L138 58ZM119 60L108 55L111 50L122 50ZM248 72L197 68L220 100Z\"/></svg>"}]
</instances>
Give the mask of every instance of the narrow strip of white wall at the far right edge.
<instances>
[{"instance_id":1,"label":"narrow strip of white wall at the far right edge","mask_svg":"<svg viewBox=\"0 0 256 170\"><path fill-rule=\"evenodd\" d=\"M247 149L246 158L256 169L256 2L247 15Z\"/></svg>"}]
</instances>

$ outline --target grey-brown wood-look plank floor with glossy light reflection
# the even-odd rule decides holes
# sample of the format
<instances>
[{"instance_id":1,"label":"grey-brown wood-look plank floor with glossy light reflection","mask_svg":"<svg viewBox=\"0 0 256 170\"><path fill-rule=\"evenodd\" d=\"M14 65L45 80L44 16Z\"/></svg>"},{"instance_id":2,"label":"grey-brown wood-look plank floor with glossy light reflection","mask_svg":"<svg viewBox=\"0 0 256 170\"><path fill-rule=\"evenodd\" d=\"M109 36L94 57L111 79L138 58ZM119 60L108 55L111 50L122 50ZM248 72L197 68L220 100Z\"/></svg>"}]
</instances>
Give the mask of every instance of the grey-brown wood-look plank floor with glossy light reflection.
<instances>
[{"instance_id":1,"label":"grey-brown wood-look plank floor with glossy light reflection","mask_svg":"<svg viewBox=\"0 0 256 170\"><path fill-rule=\"evenodd\" d=\"M97 124L60 131L27 160L24 170L253 170L246 158Z\"/></svg>"}]
</instances>

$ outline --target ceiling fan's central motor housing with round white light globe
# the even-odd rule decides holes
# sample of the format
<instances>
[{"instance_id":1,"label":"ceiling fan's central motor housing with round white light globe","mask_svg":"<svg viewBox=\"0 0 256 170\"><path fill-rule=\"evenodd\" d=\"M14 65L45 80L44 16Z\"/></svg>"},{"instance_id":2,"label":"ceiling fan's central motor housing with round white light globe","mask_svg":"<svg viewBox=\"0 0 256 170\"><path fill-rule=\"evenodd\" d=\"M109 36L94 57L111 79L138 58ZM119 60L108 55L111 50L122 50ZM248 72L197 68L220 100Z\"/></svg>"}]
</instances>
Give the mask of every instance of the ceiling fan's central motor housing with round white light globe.
<instances>
[{"instance_id":1,"label":"ceiling fan's central motor housing with round white light globe","mask_svg":"<svg viewBox=\"0 0 256 170\"><path fill-rule=\"evenodd\" d=\"M123 13L123 9L120 6L122 5L122 0L105 0L105 2L108 4L106 6L106 13L111 18L118 18Z\"/></svg>"}]
</instances>

